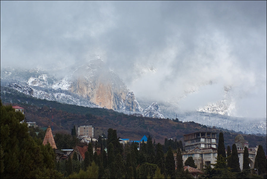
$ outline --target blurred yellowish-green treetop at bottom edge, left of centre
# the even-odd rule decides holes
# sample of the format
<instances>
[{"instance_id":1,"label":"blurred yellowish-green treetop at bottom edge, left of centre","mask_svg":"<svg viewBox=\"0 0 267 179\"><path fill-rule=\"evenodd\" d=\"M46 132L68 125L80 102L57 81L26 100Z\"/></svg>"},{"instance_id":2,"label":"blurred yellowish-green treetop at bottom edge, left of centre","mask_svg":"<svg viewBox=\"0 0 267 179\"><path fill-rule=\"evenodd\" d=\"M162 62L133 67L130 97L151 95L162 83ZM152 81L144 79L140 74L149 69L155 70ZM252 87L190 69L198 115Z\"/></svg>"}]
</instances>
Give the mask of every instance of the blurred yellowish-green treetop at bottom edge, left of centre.
<instances>
[{"instance_id":1,"label":"blurred yellowish-green treetop at bottom edge, left of centre","mask_svg":"<svg viewBox=\"0 0 267 179\"><path fill-rule=\"evenodd\" d=\"M98 166L95 162L86 168L86 171L80 170L79 173L69 175L68 178L98 178Z\"/></svg>"}]
</instances>

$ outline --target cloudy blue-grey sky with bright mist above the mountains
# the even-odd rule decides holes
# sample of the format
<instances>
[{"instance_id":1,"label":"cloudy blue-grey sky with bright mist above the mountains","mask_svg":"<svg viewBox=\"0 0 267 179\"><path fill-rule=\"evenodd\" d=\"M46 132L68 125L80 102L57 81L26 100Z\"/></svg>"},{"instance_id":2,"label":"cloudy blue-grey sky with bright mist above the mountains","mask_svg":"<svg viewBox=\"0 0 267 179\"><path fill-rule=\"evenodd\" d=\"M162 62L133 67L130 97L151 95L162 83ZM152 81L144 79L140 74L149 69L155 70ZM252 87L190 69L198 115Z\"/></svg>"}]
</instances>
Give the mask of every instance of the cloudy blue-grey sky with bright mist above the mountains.
<instances>
[{"instance_id":1,"label":"cloudy blue-grey sky with bright mist above the mountains","mask_svg":"<svg viewBox=\"0 0 267 179\"><path fill-rule=\"evenodd\" d=\"M1 1L1 68L100 56L138 98L266 118L266 1ZM185 97L186 95L186 97Z\"/></svg>"}]
</instances>

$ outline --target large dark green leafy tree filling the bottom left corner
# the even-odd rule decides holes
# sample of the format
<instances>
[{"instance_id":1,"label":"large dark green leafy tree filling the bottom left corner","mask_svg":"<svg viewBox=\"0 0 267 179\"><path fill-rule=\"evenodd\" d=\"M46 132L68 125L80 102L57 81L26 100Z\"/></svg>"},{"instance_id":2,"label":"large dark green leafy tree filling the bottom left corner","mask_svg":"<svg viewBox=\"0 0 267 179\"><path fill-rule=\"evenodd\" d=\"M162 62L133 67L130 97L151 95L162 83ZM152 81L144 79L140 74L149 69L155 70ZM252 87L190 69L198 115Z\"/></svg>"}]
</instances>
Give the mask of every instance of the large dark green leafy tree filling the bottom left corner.
<instances>
[{"instance_id":1,"label":"large dark green leafy tree filling the bottom left corner","mask_svg":"<svg viewBox=\"0 0 267 179\"><path fill-rule=\"evenodd\" d=\"M24 115L1 102L1 178L61 178L55 169L55 153L50 144L33 139ZM34 156L34 157L33 157Z\"/></svg>"}]
</instances>

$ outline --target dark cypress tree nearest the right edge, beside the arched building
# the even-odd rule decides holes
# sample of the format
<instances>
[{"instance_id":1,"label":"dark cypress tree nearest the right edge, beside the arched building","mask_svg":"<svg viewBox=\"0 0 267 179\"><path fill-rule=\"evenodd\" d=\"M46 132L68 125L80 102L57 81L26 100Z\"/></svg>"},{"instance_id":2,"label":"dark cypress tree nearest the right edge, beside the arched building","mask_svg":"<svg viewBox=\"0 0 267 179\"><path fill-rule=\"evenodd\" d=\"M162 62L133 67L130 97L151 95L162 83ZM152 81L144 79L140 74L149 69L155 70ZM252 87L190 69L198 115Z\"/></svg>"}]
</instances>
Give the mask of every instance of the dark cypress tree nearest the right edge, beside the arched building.
<instances>
[{"instance_id":1,"label":"dark cypress tree nearest the right edge, beside the arched building","mask_svg":"<svg viewBox=\"0 0 267 179\"><path fill-rule=\"evenodd\" d=\"M257 155L255 157L255 168L258 169L259 174L266 173L266 157L263 147L259 145Z\"/></svg>"}]
</instances>

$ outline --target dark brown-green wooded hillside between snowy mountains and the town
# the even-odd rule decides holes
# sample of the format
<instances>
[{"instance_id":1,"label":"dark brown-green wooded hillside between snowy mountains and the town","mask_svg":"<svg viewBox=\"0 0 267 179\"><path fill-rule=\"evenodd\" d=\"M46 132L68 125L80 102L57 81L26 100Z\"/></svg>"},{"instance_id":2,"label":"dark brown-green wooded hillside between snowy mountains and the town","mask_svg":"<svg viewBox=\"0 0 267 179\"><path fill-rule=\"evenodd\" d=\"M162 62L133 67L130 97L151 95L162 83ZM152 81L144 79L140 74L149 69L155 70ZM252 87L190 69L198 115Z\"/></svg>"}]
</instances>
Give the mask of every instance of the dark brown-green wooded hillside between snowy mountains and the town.
<instances>
[{"instance_id":1,"label":"dark brown-green wooded hillside between snowy mountains and the town","mask_svg":"<svg viewBox=\"0 0 267 179\"><path fill-rule=\"evenodd\" d=\"M108 128L117 130L118 137L140 140L142 136L151 136L156 142L164 144L165 138L173 138L183 141L183 135L197 131L223 131L225 148L232 146L237 135L234 131L207 127L195 122L181 122L178 120L155 119L126 115L104 108L88 108L77 105L61 104L55 101L40 100L29 97L19 92L3 93L1 100L4 105L19 105L25 108L27 121L36 122L39 127L52 126L53 133L71 133L74 125L94 126L94 135L97 138L102 133L106 134ZM10 103L12 101L12 103ZM107 134L106 134L107 135ZM243 135L249 142L249 146L262 145L266 152L266 136ZM217 136L219 138L219 136Z\"/></svg>"}]
</instances>

